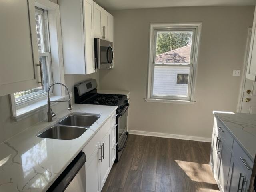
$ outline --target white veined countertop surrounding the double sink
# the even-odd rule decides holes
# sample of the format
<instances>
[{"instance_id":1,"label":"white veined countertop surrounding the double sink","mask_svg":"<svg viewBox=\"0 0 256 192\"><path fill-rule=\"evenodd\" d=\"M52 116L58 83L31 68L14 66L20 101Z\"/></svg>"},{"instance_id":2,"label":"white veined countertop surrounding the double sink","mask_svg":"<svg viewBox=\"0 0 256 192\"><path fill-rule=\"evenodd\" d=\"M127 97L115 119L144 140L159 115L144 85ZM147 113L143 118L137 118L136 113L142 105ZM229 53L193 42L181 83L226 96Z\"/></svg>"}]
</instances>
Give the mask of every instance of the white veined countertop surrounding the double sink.
<instances>
[{"instance_id":1,"label":"white veined countertop surrounding the double sink","mask_svg":"<svg viewBox=\"0 0 256 192\"><path fill-rule=\"evenodd\" d=\"M45 192L108 120L116 106L74 104L0 144L0 192ZM38 138L42 130L70 113L100 114L82 136L74 140Z\"/></svg>"}]
</instances>

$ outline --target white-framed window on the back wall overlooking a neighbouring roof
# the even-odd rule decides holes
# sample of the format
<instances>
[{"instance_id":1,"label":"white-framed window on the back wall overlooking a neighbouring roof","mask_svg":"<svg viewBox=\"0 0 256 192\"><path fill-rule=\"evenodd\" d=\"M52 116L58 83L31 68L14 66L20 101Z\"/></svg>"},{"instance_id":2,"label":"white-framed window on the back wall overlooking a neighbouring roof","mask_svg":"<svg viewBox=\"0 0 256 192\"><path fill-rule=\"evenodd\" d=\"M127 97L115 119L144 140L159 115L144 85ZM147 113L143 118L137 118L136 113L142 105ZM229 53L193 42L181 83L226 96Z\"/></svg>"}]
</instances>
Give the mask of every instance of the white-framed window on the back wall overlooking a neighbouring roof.
<instances>
[{"instance_id":1,"label":"white-framed window on the back wall overlooking a neighbouring roof","mask_svg":"<svg viewBox=\"0 0 256 192\"><path fill-rule=\"evenodd\" d=\"M200 23L151 24L146 100L194 100Z\"/></svg>"}]
</instances>

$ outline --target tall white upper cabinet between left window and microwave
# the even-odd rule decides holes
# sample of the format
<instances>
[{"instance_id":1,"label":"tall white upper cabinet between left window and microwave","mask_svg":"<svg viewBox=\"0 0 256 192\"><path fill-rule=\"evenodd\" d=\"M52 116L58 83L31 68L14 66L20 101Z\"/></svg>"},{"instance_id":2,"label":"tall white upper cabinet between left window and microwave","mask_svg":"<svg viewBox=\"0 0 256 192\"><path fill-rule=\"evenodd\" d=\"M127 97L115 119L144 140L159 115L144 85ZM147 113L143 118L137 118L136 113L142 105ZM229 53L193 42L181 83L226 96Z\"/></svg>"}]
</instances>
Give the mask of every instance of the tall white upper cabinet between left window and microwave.
<instances>
[{"instance_id":1,"label":"tall white upper cabinet between left window and microwave","mask_svg":"<svg viewBox=\"0 0 256 192\"><path fill-rule=\"evenodd\" d=\"M90 74L94 64L92 0L59 0L65 74Z\"/></svg>"}]
</instances>

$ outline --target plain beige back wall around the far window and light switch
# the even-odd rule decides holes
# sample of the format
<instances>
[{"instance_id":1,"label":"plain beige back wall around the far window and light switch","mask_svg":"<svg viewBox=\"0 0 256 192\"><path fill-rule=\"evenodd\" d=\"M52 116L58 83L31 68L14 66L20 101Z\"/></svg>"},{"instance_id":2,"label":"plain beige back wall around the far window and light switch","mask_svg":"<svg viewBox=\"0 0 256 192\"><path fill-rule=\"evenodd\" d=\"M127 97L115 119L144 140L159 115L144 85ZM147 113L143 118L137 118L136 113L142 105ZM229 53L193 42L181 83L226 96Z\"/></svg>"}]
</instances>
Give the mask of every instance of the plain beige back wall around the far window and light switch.
<instances>
[{"instance_id":1,"label":"plain beige back wall around the far window and light switch","mask_svg":"<svg viewBox=\"0 0 256 192\"><path fill-rule=\"evenodd\" d=\"M130 90L130 130L210 138L213 110L236 111L248 27L254 6L114 10L114 68L100 87ZM196 104L145 102L150 22L202 22Z\"/></svg>"}]
</instances>

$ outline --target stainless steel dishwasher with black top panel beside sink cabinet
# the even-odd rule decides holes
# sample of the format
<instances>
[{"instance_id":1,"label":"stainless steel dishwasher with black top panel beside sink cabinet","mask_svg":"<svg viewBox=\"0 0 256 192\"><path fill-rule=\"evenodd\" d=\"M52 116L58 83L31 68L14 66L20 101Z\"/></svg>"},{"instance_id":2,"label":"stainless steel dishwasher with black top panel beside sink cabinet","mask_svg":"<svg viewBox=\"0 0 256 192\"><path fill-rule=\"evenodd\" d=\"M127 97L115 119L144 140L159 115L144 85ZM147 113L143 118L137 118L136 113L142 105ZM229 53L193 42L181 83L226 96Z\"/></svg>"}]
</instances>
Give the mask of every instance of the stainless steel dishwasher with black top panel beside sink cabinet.
<instances>
[{"instance_id":1,"label":"stainless steel dishwasher with black top panel beside sink cabinet","mask_svg":"<svg viewBox=\"0 0 256 192\"><path fill-rule=\"evenodd\" d=\"M47 192L86 192L86 156L80 152Z\"/></svg>"}]
</instances>

